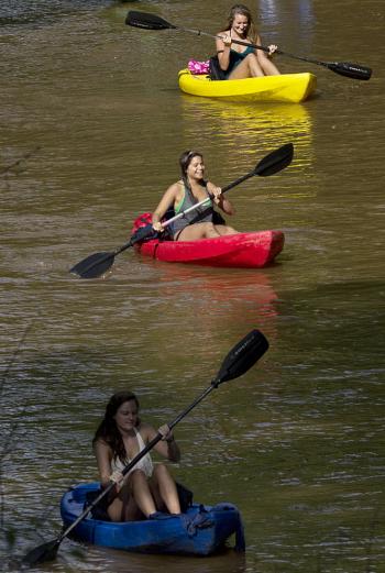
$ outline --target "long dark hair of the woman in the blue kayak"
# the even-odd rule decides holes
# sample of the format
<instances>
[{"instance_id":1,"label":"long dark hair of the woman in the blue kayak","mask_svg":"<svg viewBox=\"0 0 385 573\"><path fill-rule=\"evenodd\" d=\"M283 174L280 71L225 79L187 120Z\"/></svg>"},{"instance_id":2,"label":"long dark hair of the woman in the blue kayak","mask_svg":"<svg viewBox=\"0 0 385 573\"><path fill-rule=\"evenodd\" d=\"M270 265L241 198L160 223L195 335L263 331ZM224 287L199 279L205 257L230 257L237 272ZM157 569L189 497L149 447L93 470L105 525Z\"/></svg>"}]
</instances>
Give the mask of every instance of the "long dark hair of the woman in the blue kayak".
<instances>
[{"instance_id":1,"label":"long dark hair of the woman in the blue kayak","mask_svg":"<svg viewBox=\"0 0 385 573\"><path fill-rule=\"evenodd\" d=\"M105 418L95 432L92 440L92 445L99 440L106 442L111 448L113 455L119 458L122 463L127 461L127 452L114 416L122 404L131 400L134 400L139 409L139 400L132 392L117 392L117 394L111 396L106 406ZM138 418L138 426L139 425L140 419Z\"/></svg>"}]
</instances>

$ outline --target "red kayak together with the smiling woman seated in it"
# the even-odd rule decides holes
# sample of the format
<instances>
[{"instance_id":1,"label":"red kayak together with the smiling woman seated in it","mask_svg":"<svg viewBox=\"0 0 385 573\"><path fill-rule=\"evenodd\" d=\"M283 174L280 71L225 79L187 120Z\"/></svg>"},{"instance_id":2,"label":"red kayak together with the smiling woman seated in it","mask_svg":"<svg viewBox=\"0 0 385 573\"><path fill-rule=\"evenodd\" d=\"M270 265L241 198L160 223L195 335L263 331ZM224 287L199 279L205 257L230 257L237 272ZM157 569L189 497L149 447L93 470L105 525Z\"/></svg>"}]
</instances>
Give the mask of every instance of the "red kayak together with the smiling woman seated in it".
<instances>
[{"instance_id":1,"label":"red kayak together with the smiling woman seated in it","mask_svg":"<svg viewBox=\"0 0 385 573\"><path fill-rule=\"evenodd\" d=\"M153 214L144 213L134 221L133 236L150 224L160 233L152 241L138 242L136 250L168 263L251 268L272 263L284 246L284 234L280 231L239 233L213 209L216 205L226 214L235 212L222 189L204 178L202 154L186 151L179 165L182 179L168 187ZM179 218L167 220L169 211ZM168 233L162 234L165 229Z\"/></svg>"}]
</instances>

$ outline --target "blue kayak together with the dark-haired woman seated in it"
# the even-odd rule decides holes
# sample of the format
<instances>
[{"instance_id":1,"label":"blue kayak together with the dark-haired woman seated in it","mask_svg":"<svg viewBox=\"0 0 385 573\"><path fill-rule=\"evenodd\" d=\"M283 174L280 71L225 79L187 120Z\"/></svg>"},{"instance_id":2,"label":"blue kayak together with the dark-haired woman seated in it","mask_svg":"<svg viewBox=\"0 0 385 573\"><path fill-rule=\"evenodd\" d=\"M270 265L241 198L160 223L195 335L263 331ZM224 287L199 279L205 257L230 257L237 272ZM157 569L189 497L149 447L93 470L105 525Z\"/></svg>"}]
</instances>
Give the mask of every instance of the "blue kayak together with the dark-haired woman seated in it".
<instances>
[{"instance_id":1,"label":"blue kayak together with the dark-haired woman seated in it","mask_svg":"<svg viewBox=\"0 0 385 573\"><path fill-rule=\"evenodd\" d=\"M167 425L154 449L172 462L179 448ZM139 400L131 392L114 394L106 407L95 438L100 483L70 488L62 498L61 514L69 526L111 482L116 486L75 530L77 539L103 547L143 553L208 555L237 533L235 548L244 550L241 517L237 507L193 504L193 494L176 484L164 463L145 453L132 470L124 467L157 436L139 417Z\"/></svg>"}]
</instances>

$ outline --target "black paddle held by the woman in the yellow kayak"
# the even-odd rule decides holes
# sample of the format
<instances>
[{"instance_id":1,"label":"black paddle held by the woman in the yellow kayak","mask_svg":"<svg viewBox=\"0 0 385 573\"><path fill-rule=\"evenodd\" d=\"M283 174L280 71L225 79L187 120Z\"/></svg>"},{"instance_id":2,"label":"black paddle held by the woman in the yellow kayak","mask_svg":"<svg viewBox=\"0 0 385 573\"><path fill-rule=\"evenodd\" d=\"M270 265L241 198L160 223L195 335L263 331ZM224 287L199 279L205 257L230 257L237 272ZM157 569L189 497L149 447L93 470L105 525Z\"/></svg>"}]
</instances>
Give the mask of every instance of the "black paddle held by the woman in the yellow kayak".
<instances>
[{"instance_id":1,"label":"black paddle held by the woman in the yellow kayak","mask_svg":"<svg viewBox=\"0 0 385 573\"><path fill-rule=\"evenodd\" d=\"M199 36L220 37L219 35L209 34L208 32L202 32L201 30L190 30L188 27L176 26L156 14L136 12L134 10L130 10L130 12L127 14L125 23L130 26L143 27L145 30L180 30L183 32L191 32L193 34L197 34ZM242 42L241 40L232 40L232 42L234 44L252 46L255 49L262 49L263 52L270 53L268 47L265 46L249 44L248 42ZM372 69L370 67L360 66L359 64L351 64L350 62L319 62L318 59L312 59L309 57L295 56L294 54L288 54L282 49L277 49L274 52L274 54L280 54L282 56L292 57L294 59L301 59L302 62L309 62L310 64L323 66L328 69L331 69L332 71L336 71L336 74L340 74L340 76L345 76L346 78L370 79L372 76Z\"/></svg>"}]
</instances>

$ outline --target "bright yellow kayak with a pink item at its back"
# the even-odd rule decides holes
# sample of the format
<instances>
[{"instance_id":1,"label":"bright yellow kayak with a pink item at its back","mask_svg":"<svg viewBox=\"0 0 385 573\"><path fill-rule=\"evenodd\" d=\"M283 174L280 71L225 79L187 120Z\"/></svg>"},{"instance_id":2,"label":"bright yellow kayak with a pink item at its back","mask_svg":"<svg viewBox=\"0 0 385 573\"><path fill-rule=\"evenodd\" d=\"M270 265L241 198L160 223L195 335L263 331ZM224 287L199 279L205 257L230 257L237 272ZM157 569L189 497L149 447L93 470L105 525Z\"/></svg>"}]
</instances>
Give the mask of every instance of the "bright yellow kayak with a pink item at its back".
<instances>
[{"instance_id":1,"label":"bright yellow kayak with a pink item at its back","mask_svg":"<svg viewBox=\"0 0 385 573\"><path fill-rule=\"evenodd\" d=\"M314 74L282 74L262 78L211 80L209 76L179 71L179 88L191 96L234 101L305 101L316 89Z\"/></svg>"}]
</instances>

